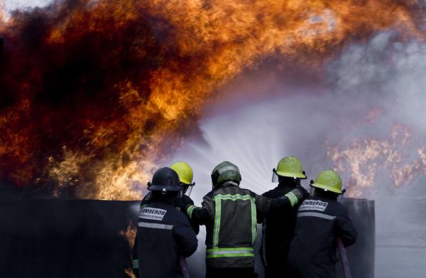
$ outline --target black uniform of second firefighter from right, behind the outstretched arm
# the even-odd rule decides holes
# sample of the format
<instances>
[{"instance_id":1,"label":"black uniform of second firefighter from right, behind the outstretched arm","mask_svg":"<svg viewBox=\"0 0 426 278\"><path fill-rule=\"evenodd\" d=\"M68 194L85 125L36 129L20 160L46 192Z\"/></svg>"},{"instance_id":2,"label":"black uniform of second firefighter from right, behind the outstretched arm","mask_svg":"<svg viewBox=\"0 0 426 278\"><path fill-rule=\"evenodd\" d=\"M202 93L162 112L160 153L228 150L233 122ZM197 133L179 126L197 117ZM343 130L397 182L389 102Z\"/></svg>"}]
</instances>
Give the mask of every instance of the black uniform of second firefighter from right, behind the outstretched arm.
<instances>
[{"instance_id":1,"label":"black uniform of second firefighter from right, behind the outstretched arm","mask_svg":"<svg viewBox=\"0 0 426 278\"><path fill-rule=\"evenodd\" d=\"M294 185L281 182L262 196L279 198L293 188L295 188ZM263 219L261 257L266 269L266 277L280 277L283 273L285 277L293 277L291 268L287 264L287 257L290 242L295 235L297 208L298 205L285 212L272 211Z\"/></svg>"}]
</instances>

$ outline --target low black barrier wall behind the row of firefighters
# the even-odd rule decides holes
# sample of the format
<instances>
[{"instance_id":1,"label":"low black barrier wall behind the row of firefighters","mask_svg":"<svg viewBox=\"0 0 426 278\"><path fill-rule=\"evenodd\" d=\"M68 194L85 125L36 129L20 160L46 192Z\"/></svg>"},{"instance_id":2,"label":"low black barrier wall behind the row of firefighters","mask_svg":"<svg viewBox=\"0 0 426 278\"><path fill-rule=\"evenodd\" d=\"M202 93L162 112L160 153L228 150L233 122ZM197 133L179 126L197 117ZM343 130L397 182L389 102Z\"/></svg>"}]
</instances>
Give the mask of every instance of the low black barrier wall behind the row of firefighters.
<instances>
[{"instance_id":1,"label":"low black barrier wall behind the row of firefighters","mask_svg":"<svg viewBox=\"0 0 426 278\"><path fill-rule=\"evenodd\" d=\"M374 203L344 204L359 232L347 250L353 277L372 278ZM0 201L0 277L129 277L131 248L122 232L136 225L138 209L137 201Z\"/></svg>"}]
</instances>

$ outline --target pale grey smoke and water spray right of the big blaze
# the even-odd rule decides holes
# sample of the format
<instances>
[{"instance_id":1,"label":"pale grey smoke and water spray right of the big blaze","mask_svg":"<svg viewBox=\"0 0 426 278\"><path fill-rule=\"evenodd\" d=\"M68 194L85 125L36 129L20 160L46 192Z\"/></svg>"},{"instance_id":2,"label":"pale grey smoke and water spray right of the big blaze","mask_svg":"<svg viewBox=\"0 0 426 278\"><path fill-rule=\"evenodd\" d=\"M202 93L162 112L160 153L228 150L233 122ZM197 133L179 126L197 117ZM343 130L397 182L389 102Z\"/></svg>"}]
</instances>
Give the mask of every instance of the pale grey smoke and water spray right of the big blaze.
<instances>
[{"instance_id":1,"label":"pale grey smoke and water spray right of the big blaze","mask_svg":"<svg viewBox=\"0 0 426 278\"><path fill-rule=\"evenodd\" d=\"M312 179L336 169L350 196L376 200L376 277L420 278L426 252L425 70L426 45L402 42L388 31L334 58L320 88L276 73L241 79L232 86L234 101L210 107L201 120L204 141L188 143L172 161L194 166L198 202L210 190L210 171L223 160L238 165L242 186L258 193L273 188L271 170L285 155L299 156ZM256 92L268 97L239 105Z\"/></svg>"}]
</instances>

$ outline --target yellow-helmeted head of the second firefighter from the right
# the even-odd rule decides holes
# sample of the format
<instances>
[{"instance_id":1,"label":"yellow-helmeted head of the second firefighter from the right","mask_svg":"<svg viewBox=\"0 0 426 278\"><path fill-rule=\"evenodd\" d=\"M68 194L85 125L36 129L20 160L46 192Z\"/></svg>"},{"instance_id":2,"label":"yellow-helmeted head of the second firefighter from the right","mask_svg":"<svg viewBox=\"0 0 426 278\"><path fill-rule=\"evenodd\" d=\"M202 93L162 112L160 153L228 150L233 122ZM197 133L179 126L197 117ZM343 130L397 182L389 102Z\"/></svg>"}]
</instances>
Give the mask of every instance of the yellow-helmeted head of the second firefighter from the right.
<instances>
[{"instance_id":1,"label":"yellow-helmeted head of the second firefighter from the right","mask_svg":"<svg viewBox=\"0 0 426 278\"><path fill-rule=\"evenodd\" d=\"M283 157L283 159L278 161L277 168L272 171L273 183L295 183L300 185L300 180L306 178L302 162L296 156Z\"/></svg>"}]
</instances>

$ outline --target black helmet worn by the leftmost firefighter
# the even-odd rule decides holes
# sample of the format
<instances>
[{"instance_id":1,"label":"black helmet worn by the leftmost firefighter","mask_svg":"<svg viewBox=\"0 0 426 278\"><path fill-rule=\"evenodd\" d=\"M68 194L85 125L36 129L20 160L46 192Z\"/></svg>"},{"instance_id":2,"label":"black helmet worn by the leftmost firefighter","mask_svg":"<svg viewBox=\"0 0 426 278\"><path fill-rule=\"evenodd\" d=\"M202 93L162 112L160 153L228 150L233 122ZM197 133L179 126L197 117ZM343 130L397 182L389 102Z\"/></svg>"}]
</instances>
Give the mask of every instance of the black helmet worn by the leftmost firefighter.
<instances>
[{"instance_id":1,"label":"black helmet worn by the leftmost firefighter","mask_svg":"<svg viewBox=\"0 0 426 278\"><path fill-rule=\"evenodd\" d=\"M148 183L148 190L161 191L182 191L178 173L173 169L164 167L154 173L153 181Z\"/></svg>"}]
</instances>

